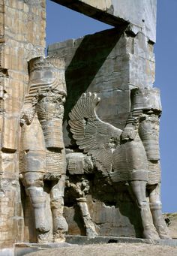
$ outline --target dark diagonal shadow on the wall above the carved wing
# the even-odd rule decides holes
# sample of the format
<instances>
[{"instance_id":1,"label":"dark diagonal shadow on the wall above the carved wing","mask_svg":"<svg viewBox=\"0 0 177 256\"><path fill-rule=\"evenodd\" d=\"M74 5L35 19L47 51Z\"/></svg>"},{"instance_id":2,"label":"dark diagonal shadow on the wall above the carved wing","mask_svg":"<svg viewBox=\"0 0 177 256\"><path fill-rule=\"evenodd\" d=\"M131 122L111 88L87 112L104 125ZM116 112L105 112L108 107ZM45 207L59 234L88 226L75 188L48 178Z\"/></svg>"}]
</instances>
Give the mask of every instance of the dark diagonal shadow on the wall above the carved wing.
<instances>
[{"instance_id":1,"label":"dark diagonal shadow on the wall above the carved wing","mask_svg":"<svg viewBox=\"0 0 177 256\"><path fill-rule=\"evenodd\" d=\"M89 88L123 31L124 27L109 29L94 35L86 35L81 41L65 72L68 98L65 103L64 122L82 93ZM102 41L104 44L101 44Z\"/></svg>"}]
</instances>

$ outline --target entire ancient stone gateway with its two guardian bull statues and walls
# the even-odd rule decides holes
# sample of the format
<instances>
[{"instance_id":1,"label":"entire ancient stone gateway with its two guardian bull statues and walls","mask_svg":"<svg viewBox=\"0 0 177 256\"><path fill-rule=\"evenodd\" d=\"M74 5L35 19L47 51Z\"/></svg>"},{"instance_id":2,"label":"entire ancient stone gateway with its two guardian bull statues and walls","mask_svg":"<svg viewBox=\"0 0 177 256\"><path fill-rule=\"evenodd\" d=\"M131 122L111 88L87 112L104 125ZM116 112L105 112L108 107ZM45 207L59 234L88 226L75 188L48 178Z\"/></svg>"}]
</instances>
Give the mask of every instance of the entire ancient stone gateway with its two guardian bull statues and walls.
<instances>
[{"instance_id":1,"label":"entire ancient stone gateway with its two guardian bull statues and walls","mask_svg":"<svg viewBox=\"0 0 177 256\"><path fill-rule=\"evenodd\" d=\"M45 58L45 0L0 2L1 248L66 233L167 238L156 1L54 2L114 28Z\"/></svg>"}]
</instances>

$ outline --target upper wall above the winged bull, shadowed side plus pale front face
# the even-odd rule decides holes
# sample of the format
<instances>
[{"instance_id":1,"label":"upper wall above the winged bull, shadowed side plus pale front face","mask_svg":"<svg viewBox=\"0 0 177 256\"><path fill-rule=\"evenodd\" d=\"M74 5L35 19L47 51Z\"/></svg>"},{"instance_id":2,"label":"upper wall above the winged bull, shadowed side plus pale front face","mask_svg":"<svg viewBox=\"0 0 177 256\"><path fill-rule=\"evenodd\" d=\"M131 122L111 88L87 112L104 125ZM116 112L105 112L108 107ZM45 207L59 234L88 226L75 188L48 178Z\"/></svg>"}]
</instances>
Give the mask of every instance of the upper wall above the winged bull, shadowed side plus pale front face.
<instances>
[{"instance_id":1,"label":"upper wall above the winged bull, shadowed side plus pale front face","mask_svg":"<svg viewBox=\"0 0 177 256\"><path fill-rule=\"evenodd\" d=\"M83 92L97 92L98 116L122 129L130 112L129 85L143 88L154 83L153 45L142 33L125 32L124 26L52 44L48 54L66 61L65 146L71 144L68 113Z\"/></svg>"}]
</instances>

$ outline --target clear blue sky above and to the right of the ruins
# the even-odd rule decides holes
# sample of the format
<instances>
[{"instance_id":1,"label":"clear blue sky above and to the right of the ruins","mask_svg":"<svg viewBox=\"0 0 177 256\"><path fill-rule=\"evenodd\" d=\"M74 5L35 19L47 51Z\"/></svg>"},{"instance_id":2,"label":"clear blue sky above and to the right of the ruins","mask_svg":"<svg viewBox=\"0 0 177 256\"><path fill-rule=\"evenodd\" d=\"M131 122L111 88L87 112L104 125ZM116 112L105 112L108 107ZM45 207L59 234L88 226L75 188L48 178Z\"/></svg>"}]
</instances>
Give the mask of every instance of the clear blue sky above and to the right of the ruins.
<instances>
[{"instance_id":1,"label":"clear blue sky above and to the right of the ruins","mask_svg":"<svg viewBox=\"0 0 177 256\"><path fill-rule=\"evenodd\" d=\"M157 0L157 43L154 47L156 79L163 115L160 120L163 212L177 212L177 0ZM111 26L46 0L46 45Z\"/></svg>"}]
</instances>

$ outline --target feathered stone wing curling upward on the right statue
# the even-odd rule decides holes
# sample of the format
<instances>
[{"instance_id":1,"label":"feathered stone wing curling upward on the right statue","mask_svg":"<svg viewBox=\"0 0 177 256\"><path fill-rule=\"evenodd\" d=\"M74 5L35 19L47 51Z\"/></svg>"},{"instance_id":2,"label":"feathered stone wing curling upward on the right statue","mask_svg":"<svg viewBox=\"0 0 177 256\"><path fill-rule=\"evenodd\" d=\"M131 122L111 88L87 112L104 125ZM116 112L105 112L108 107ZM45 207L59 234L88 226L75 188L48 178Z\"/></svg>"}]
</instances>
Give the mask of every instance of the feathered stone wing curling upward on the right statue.
<instances>
[{"instance_id":1,"label":"feathered stone wing curling upward on the right statue","mask_svg":"<svg viewBox=\"0 0 177 256\"><path fill-rule=\"evenodd\" d=\"M95 107L99 101L96 93L83 93L69 114L69 125L77 145L92 155L98 170L110 172L121 130L98 118Z\"/></svg>"}]
</instances>

